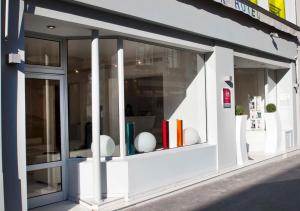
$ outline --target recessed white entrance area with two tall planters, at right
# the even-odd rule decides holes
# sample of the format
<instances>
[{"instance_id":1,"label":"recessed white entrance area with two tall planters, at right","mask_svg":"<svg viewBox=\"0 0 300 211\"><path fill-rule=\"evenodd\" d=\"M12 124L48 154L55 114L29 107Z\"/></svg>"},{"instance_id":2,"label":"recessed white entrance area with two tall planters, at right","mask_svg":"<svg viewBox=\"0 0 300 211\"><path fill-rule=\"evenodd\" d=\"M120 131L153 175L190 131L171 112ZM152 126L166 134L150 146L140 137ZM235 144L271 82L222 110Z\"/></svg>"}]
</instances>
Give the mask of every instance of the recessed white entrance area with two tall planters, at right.
<instances>
[{"instance_id":1,"label":"recessed white entrance area with two tall planters, at right","mask_svg":"<svg viewBox=\"0 0 300 211\"><path fill-rule=\"evenodd\" d=\"M247 146L247 156L240 164L264 160L295 147L293 76L289 64L236 56L234 78L236 113L240 112L237 119L245 121L236 123L238 129L244 125L237 131L237 139L240 145Z\"/></svg>"}]
</instances>

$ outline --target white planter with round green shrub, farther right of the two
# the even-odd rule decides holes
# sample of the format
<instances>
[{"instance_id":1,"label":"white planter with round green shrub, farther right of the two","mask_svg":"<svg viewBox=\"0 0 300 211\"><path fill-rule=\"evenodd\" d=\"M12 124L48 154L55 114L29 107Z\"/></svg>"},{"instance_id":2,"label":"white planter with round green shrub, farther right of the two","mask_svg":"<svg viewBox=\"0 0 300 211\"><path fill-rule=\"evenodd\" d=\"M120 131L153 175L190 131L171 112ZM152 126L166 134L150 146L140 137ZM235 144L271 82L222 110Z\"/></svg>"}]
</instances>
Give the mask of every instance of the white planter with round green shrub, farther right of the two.
<instances>
[{"instance_id":1,"label":"white planter with round green shrub, farther right of the two","mask_svg":"<svg viewBox=\"0 0 300 211\"><path fill-rule=\"evenodd\" d=\"M268 154L277 153L281 143L281 125L276 105L270 103L266 106L266 145L265 152Z\"/></svg>"}]
</instances>

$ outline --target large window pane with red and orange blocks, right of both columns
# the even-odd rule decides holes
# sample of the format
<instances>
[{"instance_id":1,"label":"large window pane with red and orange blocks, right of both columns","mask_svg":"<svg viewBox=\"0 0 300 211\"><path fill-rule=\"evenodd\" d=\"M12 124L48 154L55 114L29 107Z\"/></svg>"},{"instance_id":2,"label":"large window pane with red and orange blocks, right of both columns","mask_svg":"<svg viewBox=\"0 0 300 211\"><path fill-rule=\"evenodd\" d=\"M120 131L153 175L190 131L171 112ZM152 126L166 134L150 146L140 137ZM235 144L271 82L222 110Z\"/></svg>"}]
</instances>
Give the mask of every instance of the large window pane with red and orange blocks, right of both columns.
<instances>
[{"instance_id":1,"label":"large window pane with red and orange blocks, right of both columns","mask_svg":"<svg viewBox=\"0 0 300 211\"><path fill-rule=\"evenodd\" d=\"M132 41L124 41L124 53L127 153L152 151L130 146L142 132L155 137L156 149L206 142L204 57ZM137 146L150 143L139 137Z\"/></svg>"}]
</instances>

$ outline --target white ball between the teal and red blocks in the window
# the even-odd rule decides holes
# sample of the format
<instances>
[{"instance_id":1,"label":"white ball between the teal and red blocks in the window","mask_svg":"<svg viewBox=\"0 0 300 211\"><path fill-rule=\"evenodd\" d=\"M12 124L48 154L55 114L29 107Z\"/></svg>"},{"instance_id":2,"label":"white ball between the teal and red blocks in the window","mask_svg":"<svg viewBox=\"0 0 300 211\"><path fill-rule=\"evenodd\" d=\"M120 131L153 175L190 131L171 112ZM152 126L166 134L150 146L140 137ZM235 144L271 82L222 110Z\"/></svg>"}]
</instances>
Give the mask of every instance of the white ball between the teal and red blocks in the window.
<instances>
[{"instance_id":1,"label":"white ball between the teal and red blocks in the window","mask_svg":"<svg viewBox=\"0 0 300 211\"><path fill-rule=\"evenodd\" d=\"M156 139L151 133L142 132L134 139L134 146L138 152L152 152L156 147Z\"/></svg>"}]
</instances>

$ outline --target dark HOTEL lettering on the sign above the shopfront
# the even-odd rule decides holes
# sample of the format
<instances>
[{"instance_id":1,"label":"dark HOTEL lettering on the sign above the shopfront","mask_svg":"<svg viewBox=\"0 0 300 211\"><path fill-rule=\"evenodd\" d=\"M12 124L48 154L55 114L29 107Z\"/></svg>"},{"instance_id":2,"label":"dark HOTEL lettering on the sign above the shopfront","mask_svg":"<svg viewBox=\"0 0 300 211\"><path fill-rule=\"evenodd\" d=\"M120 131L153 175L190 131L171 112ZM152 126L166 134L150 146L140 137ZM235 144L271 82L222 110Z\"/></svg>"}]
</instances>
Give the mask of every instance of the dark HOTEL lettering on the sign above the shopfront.
<instances>
[{"instance_id":1,"label":"dark HOTEL lettering on the sign above the shopfront","mask_svg":"<svg viewBox=\"0 0 300 211\"><path fill-rule=\"evenodd\" d=\"M248 4L243 3L242 1L239 0L215 0L215 1L224 4L226 6L229 6L240 12L243 12L246 15L251 16L252 18L260 19L260 13L256 9L254 9Z\"/></svg>"}]
</instances>

